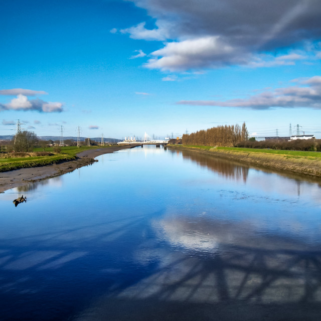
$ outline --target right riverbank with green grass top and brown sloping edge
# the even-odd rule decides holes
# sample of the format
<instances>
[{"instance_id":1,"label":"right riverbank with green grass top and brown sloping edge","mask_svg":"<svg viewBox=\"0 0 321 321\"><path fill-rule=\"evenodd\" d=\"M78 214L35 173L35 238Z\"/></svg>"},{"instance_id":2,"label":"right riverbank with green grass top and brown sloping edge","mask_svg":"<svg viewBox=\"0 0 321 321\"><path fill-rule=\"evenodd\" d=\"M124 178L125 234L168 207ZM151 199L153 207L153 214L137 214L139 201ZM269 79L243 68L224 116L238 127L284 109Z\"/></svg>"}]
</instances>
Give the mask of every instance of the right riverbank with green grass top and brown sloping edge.
<instances>
[{"instance_id":1,"label":"right riverbank with green grass top and brown sloping edge","mask_svg":"<svg viewBox=\"0 0 321 321\"><path fill-rule=\"evenodd\" d=\"M310 156L310 153L309 156L304 156L291 155L290 153L285 152L284 154L275 154L264 152L264 149L255 151L244 149L244 151L242 151L242 148L202 148L201 146L192 147L185 145L168 145L168 148L190 150L215 157L231 159L233 161L239 161L242 163L263 166L270 169L321 177L321 158ZM315 155L318 156L319 153Z\"/></svg>"}]
</instances>

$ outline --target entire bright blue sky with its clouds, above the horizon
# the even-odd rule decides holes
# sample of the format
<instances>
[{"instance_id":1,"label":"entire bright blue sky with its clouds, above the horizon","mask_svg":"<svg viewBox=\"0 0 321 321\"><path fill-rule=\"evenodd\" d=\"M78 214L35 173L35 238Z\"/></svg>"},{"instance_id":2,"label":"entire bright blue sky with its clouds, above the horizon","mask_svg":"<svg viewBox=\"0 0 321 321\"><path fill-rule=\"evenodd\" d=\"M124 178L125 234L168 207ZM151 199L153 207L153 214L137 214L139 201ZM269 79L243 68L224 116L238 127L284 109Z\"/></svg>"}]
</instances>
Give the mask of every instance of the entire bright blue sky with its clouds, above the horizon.
<instances>
[{"instance_id":1,"label":"entire bright blue sky with its clouds, above the horizon","mask_svg":"<svg viewBox=\"0 0 321 321\"><path fill-rule=\"evenodd\" d=\"M321 138L319 0L4 0L0 135ZM302 132L300 132L302 133Z\"/></svg>"}]
</instances>

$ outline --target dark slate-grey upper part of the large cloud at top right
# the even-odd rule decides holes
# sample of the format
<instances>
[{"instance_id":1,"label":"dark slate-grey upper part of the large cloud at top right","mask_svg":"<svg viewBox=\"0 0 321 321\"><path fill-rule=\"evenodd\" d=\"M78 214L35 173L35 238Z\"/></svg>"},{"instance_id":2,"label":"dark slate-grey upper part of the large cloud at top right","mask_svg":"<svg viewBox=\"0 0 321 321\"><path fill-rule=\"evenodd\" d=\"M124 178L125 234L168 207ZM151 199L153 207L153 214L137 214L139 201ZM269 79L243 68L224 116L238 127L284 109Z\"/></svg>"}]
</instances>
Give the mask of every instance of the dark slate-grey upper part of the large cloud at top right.
<instances>
[{"instance_id":1,"label":"dark slate-grey upper part of the large cloud at top right","mask_svg":"<svg viewBox=\"0 0 321 321\"><path fill-rule=\"evenodd\" d=\"M174 24L173 37L219 35L247 46L262 46L263 39L274 48L321 36L318 0L131 1L158 24Z\"/></svg>"}]
</instances>

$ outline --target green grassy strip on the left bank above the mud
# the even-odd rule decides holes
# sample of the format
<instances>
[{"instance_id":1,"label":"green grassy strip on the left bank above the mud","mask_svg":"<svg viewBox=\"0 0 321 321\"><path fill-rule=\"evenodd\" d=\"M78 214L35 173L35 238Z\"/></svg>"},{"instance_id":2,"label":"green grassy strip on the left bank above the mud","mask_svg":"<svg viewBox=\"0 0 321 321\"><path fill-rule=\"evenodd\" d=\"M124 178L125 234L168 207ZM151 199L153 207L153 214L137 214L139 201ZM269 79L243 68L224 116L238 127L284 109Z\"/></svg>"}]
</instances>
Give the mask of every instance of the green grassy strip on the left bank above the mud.
<instances>
[{"instance_id":1,"label":"green grassy strip on the left bank above the mud","mask_svg":"<svg viewBox=\"0 0 321 321\"><path fill-rule=\"evenodd\" d=\"M18 170L21 168L60 164L76 159L76 154L81 151L97 148L101 147L83 146L81 148L78 148L77 146L64 146L61 147L61 152L59 154L53 154L53 148L50 147L46 148L46 151L51 152L52 154L44 156L33 156L34 153L30 153L30 155L25 155L25 157L7 157L10 154L0 154L0 172ZM42 148L35 148L34 151L37 152L41 150Z\"/></svg>"}]
</instances>

